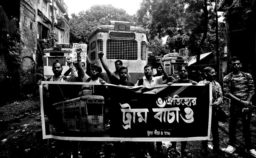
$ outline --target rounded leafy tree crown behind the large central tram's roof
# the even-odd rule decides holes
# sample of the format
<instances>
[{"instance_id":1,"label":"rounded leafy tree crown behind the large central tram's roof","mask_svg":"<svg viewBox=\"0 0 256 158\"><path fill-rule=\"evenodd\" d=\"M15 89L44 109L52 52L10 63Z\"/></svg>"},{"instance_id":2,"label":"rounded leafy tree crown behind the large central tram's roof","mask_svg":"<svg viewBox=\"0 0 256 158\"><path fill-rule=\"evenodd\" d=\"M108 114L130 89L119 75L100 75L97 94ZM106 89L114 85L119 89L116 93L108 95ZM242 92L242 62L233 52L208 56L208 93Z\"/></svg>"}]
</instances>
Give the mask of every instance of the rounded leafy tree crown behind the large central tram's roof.
<instances>
[{"instance_id":1,"label":"rounded leafy tree crown behind the large central tram's roof","mask_svg":"<svg viewBox=\"0 0 256 158\"><path fill-rule=\"evenodd\" d=\"M136 26L134 16L111 4L93 5L90 9L80 11L77 15L72 13L71 16L70 43L88 42L90 33L100 25L109 25L110 20L128 21L132 26Z\"/></svg>"}]
</instances>

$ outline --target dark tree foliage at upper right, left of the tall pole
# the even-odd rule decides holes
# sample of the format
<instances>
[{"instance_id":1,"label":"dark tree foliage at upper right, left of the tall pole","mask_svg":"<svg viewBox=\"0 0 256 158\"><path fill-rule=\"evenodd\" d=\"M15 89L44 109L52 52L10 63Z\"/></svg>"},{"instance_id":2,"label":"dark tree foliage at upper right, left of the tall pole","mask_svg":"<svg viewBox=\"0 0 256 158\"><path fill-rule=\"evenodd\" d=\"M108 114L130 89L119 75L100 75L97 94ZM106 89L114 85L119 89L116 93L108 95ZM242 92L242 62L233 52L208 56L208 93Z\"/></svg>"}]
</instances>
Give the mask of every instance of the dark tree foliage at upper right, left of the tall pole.
<instances>
[{"instance_id":1,"label":"dark tree foliage at upper right, left of the tall pole","mask_svg":"<svg viewBox=\"0 0 256 158\"><path fill-rule=\"evenodd\" d=\"M150 37L167 38L169 50L188 47L190 55L206 53L215 44L215 1L143 0L138 21L149 29ZM149 23L145 23L147 19ZM220 36L222 38L223 36ZM222 42L223 40L220 40Z\"/></svg>"}]
</instances>

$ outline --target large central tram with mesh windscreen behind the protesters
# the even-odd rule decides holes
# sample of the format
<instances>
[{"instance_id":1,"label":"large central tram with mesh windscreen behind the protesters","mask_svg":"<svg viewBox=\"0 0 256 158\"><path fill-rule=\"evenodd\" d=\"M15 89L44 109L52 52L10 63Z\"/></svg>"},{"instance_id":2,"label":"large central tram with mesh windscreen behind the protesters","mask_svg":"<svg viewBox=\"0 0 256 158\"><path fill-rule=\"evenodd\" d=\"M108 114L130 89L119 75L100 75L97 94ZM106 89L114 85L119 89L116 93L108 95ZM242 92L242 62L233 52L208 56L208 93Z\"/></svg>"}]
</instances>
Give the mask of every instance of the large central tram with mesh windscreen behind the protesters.
<instances>
[{"instance_id":1,"label":"large central tram with mesh windscreen behind the protesters","mask_svg":"<svg viewBox=\"0 0 256 158\"><path fill-rule=\"evenodd\" d=\"M91 64L101 65L98 53L102 51L110 71L115 71L114 62L119 59L128 67L132 83L144 75L143 68L148 63L148 37L144 28L131 26L130 22L110 21L109 25L97 27L88 40ZM108 80L105 70L100 77Z\"/></svg>"}]
</instances>

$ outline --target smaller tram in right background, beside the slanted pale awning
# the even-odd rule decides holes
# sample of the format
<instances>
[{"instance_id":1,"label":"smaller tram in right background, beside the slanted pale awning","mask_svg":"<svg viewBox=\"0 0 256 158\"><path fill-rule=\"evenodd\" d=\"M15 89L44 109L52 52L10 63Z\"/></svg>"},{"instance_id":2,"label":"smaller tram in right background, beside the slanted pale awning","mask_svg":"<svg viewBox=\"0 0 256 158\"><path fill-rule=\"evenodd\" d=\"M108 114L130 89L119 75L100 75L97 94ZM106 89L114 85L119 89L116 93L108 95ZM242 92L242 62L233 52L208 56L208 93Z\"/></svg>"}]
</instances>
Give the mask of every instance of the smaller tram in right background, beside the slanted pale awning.
<instances>
[{"instance_id":1,"label":"smaller tram in right background, beside the slanted pale awning","mask_svg":"<svg viewBox=\"0 0 256 158\"><path fill-rule=\"evenodd\" d=\"M179 53L169 53L164 55L163 64L167 74L176 80L179 78L179 66L188 64L188 58L180 56Z\"/></svg>"}]
</instances>

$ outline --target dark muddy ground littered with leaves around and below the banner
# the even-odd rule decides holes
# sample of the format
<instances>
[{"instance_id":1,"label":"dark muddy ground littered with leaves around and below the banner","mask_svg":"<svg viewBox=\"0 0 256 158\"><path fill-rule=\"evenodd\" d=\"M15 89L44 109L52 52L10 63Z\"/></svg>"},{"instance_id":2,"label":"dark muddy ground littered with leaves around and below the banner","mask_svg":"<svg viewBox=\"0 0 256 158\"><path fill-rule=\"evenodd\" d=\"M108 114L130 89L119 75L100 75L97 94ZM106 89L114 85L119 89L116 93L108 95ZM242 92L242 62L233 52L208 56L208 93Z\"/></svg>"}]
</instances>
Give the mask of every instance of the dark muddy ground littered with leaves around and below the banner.
<instances>
[{"instance_id":1,"label":"dark muddy ground littered with leaves around and below the banner","mask_svg":"<svg viewBox=\"0 0 256 158\"><path fill-rule=\"evenodd\" d=\"M228 112L228 102L225 102L223 109ZM256 115L252 114L251 130L252 143L256 144ZM219 123L220 147L225 150L227 147L228 123ZM129 158L129 148L127 142L91 142L91 141L64 141L54 139L42 139L42 124L40 112L39 96L28 95L21 100L7 103L0 107L0 157L3 158L60 158L60 157L100 157L100 151L105 153L105 158L110 157L114 147L118 146L118 152L121 158ZM251 156L244 152L243 135L241 121L238 123L237 138L242 144L236 144L236 151L233 154L214 155L212 153L212 137L208 141L208 156L200 153L201 141L189 141L188 149L192 152L194 158L202 157L227 157L227 158L250 158ZM137 143L135 143L137 144ZM138 145L138 144L137 144ZM162 149L164 158L168 158L170 142L163 142ZM76 147L77 146L77 147ZM73 150L72 148L78 149ZM178 150L180 150L180 142L177 142ZM136 148L140 151L140 146ZM155 151L154 151L155 152ZM73 154L72 154L73 153ZM136 154L136 153L135 153ZM150 157L150 156L148 156ZM160 156L156 156L160 157ZM162 157L162 156L161 156Z\"/></svg>"}]
</instances>

